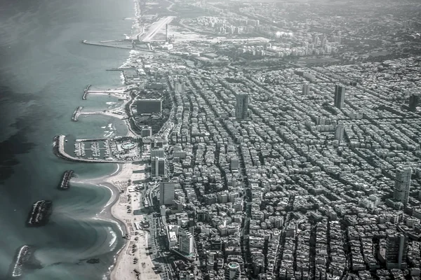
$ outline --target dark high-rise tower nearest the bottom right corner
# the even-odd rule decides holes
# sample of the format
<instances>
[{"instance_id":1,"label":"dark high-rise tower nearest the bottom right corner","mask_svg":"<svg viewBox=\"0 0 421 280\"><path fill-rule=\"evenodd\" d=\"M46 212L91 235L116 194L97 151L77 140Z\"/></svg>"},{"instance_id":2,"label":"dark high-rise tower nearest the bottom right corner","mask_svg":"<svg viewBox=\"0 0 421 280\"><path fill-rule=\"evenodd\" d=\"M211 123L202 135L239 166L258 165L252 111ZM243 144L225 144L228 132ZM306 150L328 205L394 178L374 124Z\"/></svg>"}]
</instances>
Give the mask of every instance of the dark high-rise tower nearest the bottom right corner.
<instances>
[{"instance_id":1,"label":"dark high-rise tower nearest the bottom right corner","mask_svg":"<svg viewBox=\"0 0 421 280\"><path fill-rule=\"evenodd\" d=\"M387 269L406 269L408 255L408 237L402 233L387 232L386 238L386 267Z\"/></svg>"}]
</instances>

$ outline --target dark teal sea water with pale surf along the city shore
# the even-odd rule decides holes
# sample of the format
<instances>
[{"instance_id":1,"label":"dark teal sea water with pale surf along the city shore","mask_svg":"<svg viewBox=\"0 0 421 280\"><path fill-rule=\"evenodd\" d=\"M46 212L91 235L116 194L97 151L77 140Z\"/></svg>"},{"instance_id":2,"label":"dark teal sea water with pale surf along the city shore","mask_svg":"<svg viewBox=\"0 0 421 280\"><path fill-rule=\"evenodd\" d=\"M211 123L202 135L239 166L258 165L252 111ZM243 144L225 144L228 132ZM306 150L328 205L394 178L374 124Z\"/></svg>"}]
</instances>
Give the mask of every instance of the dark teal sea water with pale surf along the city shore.
<instances>
[{"instance_id":1,"label":"dark teal sea water with pale surf along the city shore","mask_svg":"<svg viewBox=\"0 0 421 280\"><path fill-rule=\"evenodd\" d=\"M24 244L36 248L41 268L22 279L103 279L123 246L119 226L98 219L108 188L74 183L57 189L66 169L92 179L112 174L116 165L67 162L53 155L52 142L56 134L70 143L127 133L116 118L71 117L77 106L99 111L118 102L81 96L88 84L121 87L119 73L105 70L123 64L129 51L81 41L126 38L133 8L133 0L0 1L0 279L8 279ZM32 203L43 199L53 200L50 222L25 227ZM86 262L93 258L100 262Z\"/></svg>"}]
</instances>

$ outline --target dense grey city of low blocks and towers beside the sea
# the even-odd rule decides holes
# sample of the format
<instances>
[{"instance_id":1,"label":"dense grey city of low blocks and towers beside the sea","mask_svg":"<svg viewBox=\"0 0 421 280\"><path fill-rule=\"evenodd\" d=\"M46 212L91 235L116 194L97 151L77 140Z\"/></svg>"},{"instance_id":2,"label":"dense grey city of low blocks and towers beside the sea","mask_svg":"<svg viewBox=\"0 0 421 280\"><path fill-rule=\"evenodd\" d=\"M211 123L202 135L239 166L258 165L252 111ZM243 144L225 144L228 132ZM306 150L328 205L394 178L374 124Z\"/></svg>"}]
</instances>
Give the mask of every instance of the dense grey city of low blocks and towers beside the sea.
<instances>
[{"instance_id":1,"label":"dense grey city of low blocks and towers beside the sea","mask_svg":"<svg viewBox=\"0 0 421 280\"><path fill-rule=\"evenodd\" d=\"M116 279L420 279L421 3L136 7Z\"/></svg>"}]
</instances>

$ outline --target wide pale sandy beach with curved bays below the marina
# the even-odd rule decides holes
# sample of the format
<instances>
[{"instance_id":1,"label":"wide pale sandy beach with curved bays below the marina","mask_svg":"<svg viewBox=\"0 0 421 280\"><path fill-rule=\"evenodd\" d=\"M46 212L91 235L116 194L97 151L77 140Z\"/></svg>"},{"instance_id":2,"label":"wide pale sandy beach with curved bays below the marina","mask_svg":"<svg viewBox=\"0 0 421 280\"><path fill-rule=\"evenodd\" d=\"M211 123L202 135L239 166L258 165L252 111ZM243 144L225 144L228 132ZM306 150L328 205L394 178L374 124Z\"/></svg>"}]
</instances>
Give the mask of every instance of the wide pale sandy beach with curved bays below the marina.
<instances>
[{"instance_id":1,"label":"wide pale sandy beach with curved bays below the marina","mask_svg":"<svg viewBox=\"0 0 421 280\"><path fill-rule=\"evenodd\" d=\"M90 180L72 180L75 183L88 183L95 186L109 188L112 196L104 209L96 218L102 220L112 220L119 223L121 236L127 236L126 242L114 258L114 264L110 267L111 280L125 279L161 279L159 274L155 274L152 269L154 265L147 255L148 232L145 230L136 230L134 223L143 221L143 215L134 215L133 211L141 208L140 200L142 195L134 191L134 187L129 183L145 179L144 173L133 173L145 169L145 165L134 165L133 163L119 164L116 172L109 176L102 176ZM128 213L128 207L131 213ZM138 234L136 234L138 232ZM134 245L134 247L133 247ZM135 251L133 252L133 248ZM133 263L137 258L138 261ZM135 274L135 269L140 273L139 278Z\"/></svg>"}]
</instances>

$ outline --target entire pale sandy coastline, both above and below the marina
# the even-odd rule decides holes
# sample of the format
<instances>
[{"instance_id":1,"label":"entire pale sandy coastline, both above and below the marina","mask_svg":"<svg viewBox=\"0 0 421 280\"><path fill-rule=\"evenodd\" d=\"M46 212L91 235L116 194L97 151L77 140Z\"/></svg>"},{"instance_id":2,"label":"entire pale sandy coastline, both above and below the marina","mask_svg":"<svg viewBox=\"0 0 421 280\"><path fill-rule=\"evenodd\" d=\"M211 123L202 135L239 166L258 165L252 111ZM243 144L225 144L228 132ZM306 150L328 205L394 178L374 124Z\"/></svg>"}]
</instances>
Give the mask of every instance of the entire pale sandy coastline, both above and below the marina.
<instances>
[{"instance_id":1,"label":"entire pale sandy coastline, both above and below the marina","mask_svg":"<svg viewBox=\"0 0 421 280\"><path fill-rule=\"evenodd\" d=\"M135 22L132 26L132 36L133 34L140 34L141 27L138 24L140 20L140 5L138 0L134 0L134 10L135 10ZM86 43L86 42L83 42ZM131 49L130 49L131 50ZM131 57L129 56L126 63L131 63ZM124 67L124 63L121 67ZM131 85L124 85L123 88L130 88ZM121 89L119 89L121 90ZM88 94L108 94L114 97L125 97L123 104L117 109L112 111L103 112L106 116L112 116L114 118L119 118L123 120L126 126L128 127L128 132L126 136L137 137L131 127L131 123L128 121L130 112L126 112L126 105L133 102L133 97L130 92L88 92ZM117 115L114 113L122 109L124 115ZM111 163L111 162L109 162ZM146 165L134 165L133 162L112 162L116 163L117 169L115 172L109 175L105 175L95 179L81 180L83 183L92 184L94 186L100 186L103 188L108 188L112 193L107 204L105 204L102 211L97 214L95 218L112 221L117 223L119 230L121 231L121 237L126 237L124 240L123 246L116 252L113 258L112 265L109 266L108 272L106 274L107 279L110 280L129 280L129 279L140 279L140 280L160 280L161 276L155 274L154 264L150 255L147 255L147 241L148 241L148 232L146 230L136 230L136 225L143 220L143 215L134 215L134 210L142 209L140 201L142 200L142 194L138 192L129 191L131 187L131 181L138 181L145 179L144 173L135 173L135 169L145 169ZM76 181L76 180L75 180ZM133 186L132 186L133 188ZM137 203L135 203L137 202ZM130 208L129 208L130 207ZM131 209L130 213L128 209ZM133 226L134 225L134 226ZM118 234L117 234L118 235ZM120 238L121 238L120 237ZM133 246L135 250L132 251ZM138 261L133 262L133 259L136 258ZM135 273L138 271L138 273Z\"/></svg>"}]
</instances>

